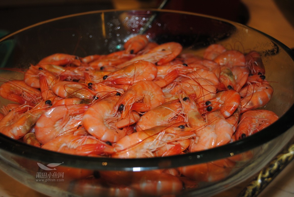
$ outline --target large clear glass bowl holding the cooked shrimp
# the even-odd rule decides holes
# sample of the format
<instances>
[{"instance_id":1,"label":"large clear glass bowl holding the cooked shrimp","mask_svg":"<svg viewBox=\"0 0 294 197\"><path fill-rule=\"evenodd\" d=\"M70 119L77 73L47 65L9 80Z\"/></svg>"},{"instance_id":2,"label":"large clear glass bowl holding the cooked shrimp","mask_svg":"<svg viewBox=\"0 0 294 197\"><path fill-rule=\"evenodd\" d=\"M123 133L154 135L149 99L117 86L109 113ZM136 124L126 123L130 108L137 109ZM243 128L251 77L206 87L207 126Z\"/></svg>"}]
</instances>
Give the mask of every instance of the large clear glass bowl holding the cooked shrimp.
<instances>
[{"instance_id":1,"label":"large clear glass bowl holding the cooked shrimp","mask_svg":"<svg viewBox=\"0 0 294 197\"><path fill-rule=\"evenodd\" d=\"M159 44L179 42L183 51L199 56L214 43L242 53L258 51L274 89L264 108L280 118L264 130L224 146L156 158L68 155L0 134L1 169L49 196L211 196L260 171L293 137L293 52L258 30L201 14L105 10L29 26L0 40L1 81L23 79L17 70L54 53L84 57L119 51L128 38L141 33ZM9 102L1 100L1 104ZM185 176L171 175L178 169L185 169Z\"/></svg>"}]
</instances>

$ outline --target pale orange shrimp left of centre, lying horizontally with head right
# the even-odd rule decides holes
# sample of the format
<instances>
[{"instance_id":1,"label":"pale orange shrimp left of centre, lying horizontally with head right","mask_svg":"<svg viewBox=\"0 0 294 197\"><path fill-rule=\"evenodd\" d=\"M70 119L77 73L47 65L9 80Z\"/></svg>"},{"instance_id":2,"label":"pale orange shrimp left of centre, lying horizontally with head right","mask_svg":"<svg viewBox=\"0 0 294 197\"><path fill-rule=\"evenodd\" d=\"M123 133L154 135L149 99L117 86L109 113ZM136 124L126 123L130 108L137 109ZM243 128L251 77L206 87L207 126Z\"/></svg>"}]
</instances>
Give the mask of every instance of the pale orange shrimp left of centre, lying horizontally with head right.
<instances>
[{"instance_id":1,"label":"pale orange shrimp left of centre, lying horizontally with head right","mask_svg":"<svg viewBox=\"0 0 294 197\"><path fill-rule=\"evenodd\" d=\"M52 86L52 91L62 98L79 98L92 100L94 94L88 91L88 86L73 81L59 81Z\"/></svg>"}]
</instances>

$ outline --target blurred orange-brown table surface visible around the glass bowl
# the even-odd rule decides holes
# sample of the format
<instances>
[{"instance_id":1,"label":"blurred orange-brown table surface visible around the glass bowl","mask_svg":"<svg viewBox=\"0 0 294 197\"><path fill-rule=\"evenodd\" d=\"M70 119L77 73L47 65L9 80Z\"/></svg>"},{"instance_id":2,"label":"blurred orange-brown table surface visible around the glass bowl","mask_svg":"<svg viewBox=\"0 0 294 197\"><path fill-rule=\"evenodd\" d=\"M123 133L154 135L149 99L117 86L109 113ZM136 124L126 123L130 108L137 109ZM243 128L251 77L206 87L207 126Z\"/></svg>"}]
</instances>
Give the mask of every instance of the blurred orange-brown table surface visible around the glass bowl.
<instances>
[{"instance_id":1,"label":"blurred orange-brown table surface visible around the glass bowl","mask_svg":"<svg viewBox=\"0 0 294 197\"><path fill-rule=\"evenodd\" d=\"M287 0L242 0L247 6L250 18L247 25L263 31L264 33L278 39L280 42L294 48L294 13L287 10L283 4L291 3L288 8L293 8L293 3ZM113 0L115 8L137 8L140 3L137 0ZM285 9L286 8L286 9ZM289 14L290 13L290 14ZM294 161L290 164L260 193L260 197L290 197L294 196ZM231 188L228 191L216 195L236 196L250 179ZM15 181L13 178L0 171L0 196L2 197L46 197L46 195L36 192L23 184Z\"/></svg>"}]
</instances>

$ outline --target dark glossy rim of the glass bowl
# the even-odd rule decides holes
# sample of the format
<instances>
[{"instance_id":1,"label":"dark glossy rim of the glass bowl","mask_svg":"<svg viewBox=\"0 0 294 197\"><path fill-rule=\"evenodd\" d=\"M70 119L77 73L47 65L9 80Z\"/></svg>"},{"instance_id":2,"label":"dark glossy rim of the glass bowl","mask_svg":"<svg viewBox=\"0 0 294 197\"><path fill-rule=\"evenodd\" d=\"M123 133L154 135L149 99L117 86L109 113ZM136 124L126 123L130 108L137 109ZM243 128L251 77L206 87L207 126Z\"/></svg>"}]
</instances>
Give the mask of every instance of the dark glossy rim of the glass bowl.
<instances>
[{"instance_id":1,"label":"dark glossy rim of the glass bowl","mask_svg":"<svg viewBox=\"0 0 294 197\"><path fill-rule=\"evenodd\" d=\"M256 31L268 39L276 42L278 46L282 47L288 55L294 60L294 53L291 49L285 46L280 41L275 38L249 26L239 24L227 19L221 19L214 16L209 16L205 14L192 13L187 11L177 11L177 10L166 10L166 9L108 9L108 10L96 10L87 11L77 14L71 14L66 16L57 17L54 19L49 19L42 21L23 29L15 31L7 36L0 39L0 42L9 39L10 37L25 31L27 29L34 28L36 26L50 23L52 21L58 21L62 19L67 19L75 16L88 15L88 14L99 14L106 12L123 12L123 11L153 11L153 12L168 12L176 14L188 14L194 16L200 16L209 19L215 19L218 21L227 22L233 24L234 26L241 26L253 31ZM294 125L294 105L292 105L288 111L286 111L275 123L263 129L262 131L255 133L253 136L248 136L241 140L225 144L223 146L218 146L204 151L198 151L193 153L166 156L166 157L155 157L155 158L108 158L108 157L88 157L88 156L78 156L70 155L59 152L53 152L41 148L37 148L21 141L14 140L0 133L0 152L8 151L17 156L29 158L35 161L43 163L56 163L56 161L64 162L65 166L87 168L87 169L98 169L98 170L126 170L126 171L143 171L152 170L158 168L174 168L180 166L194 165L199 163L206 163L210 161L215 161L218 159L228 158L239 153L244 153L253 148L261 146L262 144L273 140L288 131ZM290 140L290 139L289 139ZM32 154L33 153L33 154Z\"/></svg>"}]
</instances>

